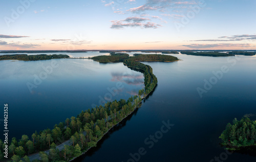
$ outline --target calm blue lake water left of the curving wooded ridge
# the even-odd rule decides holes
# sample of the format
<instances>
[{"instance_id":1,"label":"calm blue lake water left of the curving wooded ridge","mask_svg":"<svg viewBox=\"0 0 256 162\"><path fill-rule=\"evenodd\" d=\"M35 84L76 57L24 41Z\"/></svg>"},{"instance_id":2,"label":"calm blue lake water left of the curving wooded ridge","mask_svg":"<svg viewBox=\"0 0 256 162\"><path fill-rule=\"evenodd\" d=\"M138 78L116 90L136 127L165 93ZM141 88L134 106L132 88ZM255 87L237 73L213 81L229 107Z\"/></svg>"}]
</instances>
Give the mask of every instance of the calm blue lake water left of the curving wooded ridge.
<instances>
[{"instance_id":1,"label":"calm blue lake water left of the curving wooded ridge","mask_svg":"<svg viewBox=\"0 0 256 162\"><path fill-rule=\"evenodd\" d=\"M0 69L3 110L4 103L9 104L9 138L20 139L23 134L31 136L35 130L53 128L92 105L128 99L144 87L143 74L122 63L99 64L88 59L8 60L0 62ZM1 122L2 128L3 125Z\"/></svg>"}]
</instances>

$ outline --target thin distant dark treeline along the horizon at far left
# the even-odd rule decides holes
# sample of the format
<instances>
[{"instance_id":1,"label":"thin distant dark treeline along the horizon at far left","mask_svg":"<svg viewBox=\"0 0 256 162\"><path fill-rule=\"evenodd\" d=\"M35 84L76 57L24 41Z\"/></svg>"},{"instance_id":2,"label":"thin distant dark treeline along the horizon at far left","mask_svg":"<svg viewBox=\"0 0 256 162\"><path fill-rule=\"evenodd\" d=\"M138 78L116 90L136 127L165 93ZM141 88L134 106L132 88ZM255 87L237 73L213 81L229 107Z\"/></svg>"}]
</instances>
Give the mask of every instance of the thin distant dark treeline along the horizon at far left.
<instances>
[{"instance_id":1,"label":"thin distant dark treeline along the horizon at far left","mask_svg":"<svg viewBox=\"0 0 256 162\"><path fill-rule=\"evenodd\" d=\"M86 50L7 50L0 51L0 53L55 53L55 52L87 52Z\"/></svg>"}]
</instances>

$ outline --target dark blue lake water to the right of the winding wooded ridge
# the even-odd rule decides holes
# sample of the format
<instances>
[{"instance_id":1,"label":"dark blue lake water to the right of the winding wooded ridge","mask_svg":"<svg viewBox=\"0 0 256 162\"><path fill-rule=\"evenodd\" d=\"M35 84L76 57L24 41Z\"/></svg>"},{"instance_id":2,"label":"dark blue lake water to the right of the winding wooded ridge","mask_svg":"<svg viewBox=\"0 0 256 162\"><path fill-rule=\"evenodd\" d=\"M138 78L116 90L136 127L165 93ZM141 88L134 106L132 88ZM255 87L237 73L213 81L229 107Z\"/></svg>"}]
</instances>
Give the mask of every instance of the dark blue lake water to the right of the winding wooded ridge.
<instances>
[{"instance_id":1,"label":"dark blue lake water to the right of the winding wooded ridge","mask_svg":"<svg viewBox=\"0 0 256 162\"><path fill-rule=\"evenodd\" d=\"M255 157L246 154L228 155L218 138L234 118L256 113L256 57L239 56L228 61L173 56L183 61L145 63L158 77L153 94L125 126L77 161L135 161L130 153L138 153L141 147L146 153L139 161L210 161L215 156L224 159L221 161L255 161ZM233 59L238 58L233 64ZM219 71L222 66L229 71L201 98L197 87L203 88L204 79L209 80L214 76L212 71ZM162 121L168 120L175 125L149 148L145 139L161 130Z\"/></svg>"}]
</instances>

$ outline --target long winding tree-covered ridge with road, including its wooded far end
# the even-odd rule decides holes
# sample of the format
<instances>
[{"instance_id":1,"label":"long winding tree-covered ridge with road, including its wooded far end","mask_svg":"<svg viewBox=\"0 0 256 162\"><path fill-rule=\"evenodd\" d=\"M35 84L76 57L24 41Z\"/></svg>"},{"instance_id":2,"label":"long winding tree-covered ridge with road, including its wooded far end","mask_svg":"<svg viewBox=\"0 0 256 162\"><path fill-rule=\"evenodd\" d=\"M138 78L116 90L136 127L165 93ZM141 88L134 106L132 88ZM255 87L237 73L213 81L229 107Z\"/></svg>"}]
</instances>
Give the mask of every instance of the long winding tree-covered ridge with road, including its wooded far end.
<instances>
[{"instance_id":1,"label":"long winding tree-covered ridge with road, including its wooded far end","mask_svg":"<svg viewBox=\"0 0 256 162\"><path fill-rule=\"evenodd\" d=\"M123 57L126 57L127 59L123 60L124 65L143 71L145 88L139 90L138 95L131 96L127 101L124 99L120 99L119 101L115 100L105 103L104 105L96 106L92 110L88 109L82 111L77 117L67 118L64 122L55 124L53 129L48 128L40 132L35 131L30 137L23 135L20 140L12 138L8 146L9 159L28 162L31 157L29 155L37 152L40 161L70 161L80 156L83 152L88 151L90 148L96 147L97 142L104 134L108 133L113 126L133 113L142 99L150 94L157 85L157 77L153 74L151 66L136 62L143 61L143 57L140 55L137 57L129 57L125 54L126 53L112 53L111 56L99 56L96 58L98 61L102 59L102 57L105 60L120 61ZM157 61L157 59L159 59L159 61L162 59L168 61L178 60L178 58L171 56L150 56L144 55L144 59L153 59L154 61ZM69 144L64 145L63 148L59 150L56 146L65 141ZM0 140L0 146L5 146L2 140ZM2 147L0 149L1 160L4 159L5 155L4 148L5 147ZM44 152L46 150L49 150L48 153ZM36 159L33 161L39 160Z\"/></svg>"}]
</instances>

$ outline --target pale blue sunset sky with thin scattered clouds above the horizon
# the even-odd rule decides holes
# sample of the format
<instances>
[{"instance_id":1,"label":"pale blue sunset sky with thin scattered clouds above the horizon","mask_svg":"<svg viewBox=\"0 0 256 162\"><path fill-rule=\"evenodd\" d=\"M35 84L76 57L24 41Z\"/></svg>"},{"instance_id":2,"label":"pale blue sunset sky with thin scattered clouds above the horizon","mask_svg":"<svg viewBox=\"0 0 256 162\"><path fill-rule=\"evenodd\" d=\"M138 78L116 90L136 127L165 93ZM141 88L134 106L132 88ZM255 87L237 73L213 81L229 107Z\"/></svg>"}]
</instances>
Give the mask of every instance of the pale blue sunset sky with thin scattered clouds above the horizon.
<instances>
[{"instance_id":1,"label":"pale blue sunset sky with thin scattered clouds above the horizon","mask_svg":"<svg viewBox=\"0 0 256 162\"><path fill-rule=\"evenodd\" d=\"M0 1L0 50L255 50L255 7L255 0Z\"/></svg>"}]
</instances>

